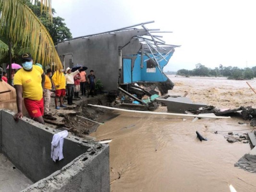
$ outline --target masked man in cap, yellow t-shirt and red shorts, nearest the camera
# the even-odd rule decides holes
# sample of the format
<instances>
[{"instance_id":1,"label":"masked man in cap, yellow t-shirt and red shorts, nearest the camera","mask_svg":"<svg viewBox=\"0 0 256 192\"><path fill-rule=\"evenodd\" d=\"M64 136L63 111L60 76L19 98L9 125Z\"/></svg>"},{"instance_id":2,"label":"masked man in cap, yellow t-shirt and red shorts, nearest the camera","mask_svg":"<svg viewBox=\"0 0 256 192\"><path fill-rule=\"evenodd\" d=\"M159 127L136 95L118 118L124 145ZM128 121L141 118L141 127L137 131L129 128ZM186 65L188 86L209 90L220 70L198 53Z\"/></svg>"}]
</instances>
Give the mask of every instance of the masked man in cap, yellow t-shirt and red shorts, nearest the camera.
<instances>
[{"instance_id":1,"label":"masked man in cap, yellow t-shirt and red shorts, nearest the camera","mask_svg":"<svg viewBox=\"0 0 256 192\"><path fill-rule=\"evenodd\" d=\"M44 100L43 87L45 84L45 73L39 66L33 65L32 56L29 53L22 55L21 68L13 78L16 89L16 102L18 112L14 115L14 120L18 121L23 117L22 96L27 112L35 121L44 124Z\"/></svg>"}]
</instances>

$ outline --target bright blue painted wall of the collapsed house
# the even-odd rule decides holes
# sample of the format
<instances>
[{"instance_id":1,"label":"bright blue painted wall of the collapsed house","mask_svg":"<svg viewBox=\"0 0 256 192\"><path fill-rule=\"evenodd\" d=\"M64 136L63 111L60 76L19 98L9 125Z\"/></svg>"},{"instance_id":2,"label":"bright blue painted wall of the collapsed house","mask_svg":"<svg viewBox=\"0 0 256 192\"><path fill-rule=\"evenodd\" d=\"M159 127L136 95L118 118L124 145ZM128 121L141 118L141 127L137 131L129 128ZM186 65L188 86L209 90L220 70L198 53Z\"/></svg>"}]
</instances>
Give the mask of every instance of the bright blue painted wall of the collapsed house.
<instances>
[{"instance_id":1,"label":"bright blue painted wall of the collapsed house","mask_svg":"<svg viewBox=\"0 0 256 192\"><path fill-rule=\"evenodd\" d=\"M173 53L170 53L166 60L170 60ZM163 55L164 56L164 55ZM152 55L150 54L150 57ZM144 60L148 57L144 56ZM131 59L123 59L123 83L131 83ZM146 61L143 63L143 68L140 68L141 64L141 55L137 55L136 60L134 61L133 69L133 82L147 81L147 82L165 82L167 80L166 76L163 75L158 67L156 67L156 72L146 72ZM165 60L159 62L160 67L163 67L167 64Z\"/></svg>"}]
</instances>

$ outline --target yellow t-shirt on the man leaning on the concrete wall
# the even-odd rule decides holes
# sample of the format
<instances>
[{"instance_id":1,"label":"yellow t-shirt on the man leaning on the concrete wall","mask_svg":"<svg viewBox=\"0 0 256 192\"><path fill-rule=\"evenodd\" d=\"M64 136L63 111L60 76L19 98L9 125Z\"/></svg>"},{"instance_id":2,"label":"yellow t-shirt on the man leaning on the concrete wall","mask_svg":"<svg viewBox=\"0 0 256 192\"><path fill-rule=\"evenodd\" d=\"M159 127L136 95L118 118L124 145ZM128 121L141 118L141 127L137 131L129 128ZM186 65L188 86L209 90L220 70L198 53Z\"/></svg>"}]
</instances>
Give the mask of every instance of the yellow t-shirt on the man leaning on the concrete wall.
<instances>
[{"instance_id":1,"label":"yellow t-shirt on the man leaning on the concrete wall","mask_svg":"<svg viewBox=\"0 0 256 192\"><path fill-rule=\"evenodd\" d=\"M15 73L13 84L22 85L24 98L39 101L43 97L43 88L41 84L41 75L43 73L43 69L37 65L33 65L31 72L27 72L21 68Z\"/></svg>"}]
</instances>

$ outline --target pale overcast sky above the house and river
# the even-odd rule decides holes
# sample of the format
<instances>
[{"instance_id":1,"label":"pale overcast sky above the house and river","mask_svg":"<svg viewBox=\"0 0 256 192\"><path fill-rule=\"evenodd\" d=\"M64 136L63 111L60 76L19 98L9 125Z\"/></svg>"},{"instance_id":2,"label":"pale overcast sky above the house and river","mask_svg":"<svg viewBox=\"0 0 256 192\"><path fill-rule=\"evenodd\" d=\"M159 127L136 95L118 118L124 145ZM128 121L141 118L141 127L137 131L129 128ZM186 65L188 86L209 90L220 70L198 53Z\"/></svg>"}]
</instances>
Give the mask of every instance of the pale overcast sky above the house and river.
<instances>
[{"instance_id":1,"label":"pale overcast sky above the house and river","mask_svg":"<svg viewBox=\"0 0 256 192\"><path fill-rule=\"evenodd\" d=\"M256 66L256 0L52 0L73 37L155 21L175 48L164 71Z\"/></svg>"}]
</instances>

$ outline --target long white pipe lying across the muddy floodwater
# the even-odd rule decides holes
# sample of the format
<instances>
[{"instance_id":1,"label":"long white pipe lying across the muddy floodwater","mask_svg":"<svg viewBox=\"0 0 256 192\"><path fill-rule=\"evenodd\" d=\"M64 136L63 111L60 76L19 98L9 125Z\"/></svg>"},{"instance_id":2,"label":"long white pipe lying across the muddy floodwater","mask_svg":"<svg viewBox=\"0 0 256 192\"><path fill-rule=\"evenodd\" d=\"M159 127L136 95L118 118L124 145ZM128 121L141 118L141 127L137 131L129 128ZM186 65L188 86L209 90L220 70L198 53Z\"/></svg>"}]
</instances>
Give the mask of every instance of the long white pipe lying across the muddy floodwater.
<instances>
[{"instance_id":1,"label":"long white pipe lying across the muddy floodwater","mask_svg":"<svg viewBox=\"0 0 256 192\"><path fill-rule=\"evenodd\" d=\"M132 113L146 113L146 114L153 114L153 115L171 115L171 116L211 118L211 119L229 119L230 118L230 117L222 117L222 116L189 115L189 114L180 114L180 113L162 113L162 112L152 112L152 111L136 111L136 110L128 110L128 109L122 109L122 108L110 108L110 107L106 107L106 106L92 105L92 104L88 104L88 106L97 107L97 108L108 108L108 109L112 109L112 110L132 112Z\"/></svg>"}]
</instances>

